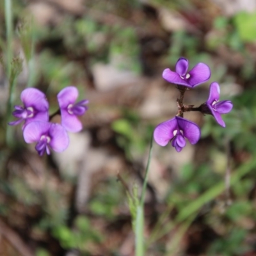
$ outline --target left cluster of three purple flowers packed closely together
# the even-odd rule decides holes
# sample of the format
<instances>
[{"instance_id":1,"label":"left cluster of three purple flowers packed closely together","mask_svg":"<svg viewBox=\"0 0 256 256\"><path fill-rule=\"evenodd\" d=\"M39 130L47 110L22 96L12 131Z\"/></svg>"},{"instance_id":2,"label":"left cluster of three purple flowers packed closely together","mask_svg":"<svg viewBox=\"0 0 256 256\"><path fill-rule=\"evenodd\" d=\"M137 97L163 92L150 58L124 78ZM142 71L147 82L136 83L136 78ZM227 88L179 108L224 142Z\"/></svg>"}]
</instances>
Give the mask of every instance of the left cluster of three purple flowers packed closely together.
<instances>
[{"instance_id":1,"label":"left cluster of three purple flowers packed closely together","mask_svg":"<svg viewBox=\"0 0 256 256\"><path fill-rule=\"evenodd\" d=\"M49 103L45 94L36 88L27 88L20 95L23 106L14 106L13 116L18 119L9 125L24 122L24 140L26 143L36 143L35 149L40 156L45 152L49 155L50 148L63 152L69 145L67 131L81 131L83 127L77 116L83 115L88 109L88 100L75 103L77 97L78 90L74 86L68 86L58 93L61 124L54 124L49 120Z\"/></svg>"}]
</instances>

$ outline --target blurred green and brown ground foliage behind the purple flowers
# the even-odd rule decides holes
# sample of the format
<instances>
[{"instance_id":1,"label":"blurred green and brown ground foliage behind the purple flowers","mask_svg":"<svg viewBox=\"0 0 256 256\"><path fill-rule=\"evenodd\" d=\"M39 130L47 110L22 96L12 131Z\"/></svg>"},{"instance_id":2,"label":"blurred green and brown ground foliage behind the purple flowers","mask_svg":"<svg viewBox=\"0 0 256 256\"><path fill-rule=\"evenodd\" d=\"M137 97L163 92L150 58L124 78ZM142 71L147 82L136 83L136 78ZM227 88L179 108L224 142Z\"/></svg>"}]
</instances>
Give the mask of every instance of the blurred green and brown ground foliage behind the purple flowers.
<instances>
[{"instance_id":1,"label":"blurred green and brown ground foliage behind the purple flowers","mask_svg":"<svg viewBox=\"0 0 256 256\"><path fill-rule=\"evenodd\" d=\"M180 153L154 144L146 255L256 255L255 1L13 0L12 12L8 46L0 2L0 255L134 255L127 193L141 189L154 127L175 115L179 92L161 74L180 56L212 71L186 103L217 81L234 109L225 129L188 113L202 138ZM28 86L51 113L70 84L90 100L65 152L40 158L20 127L6 133L8 47L22 63L13 104Z\"/></svg>"}]
</instances>

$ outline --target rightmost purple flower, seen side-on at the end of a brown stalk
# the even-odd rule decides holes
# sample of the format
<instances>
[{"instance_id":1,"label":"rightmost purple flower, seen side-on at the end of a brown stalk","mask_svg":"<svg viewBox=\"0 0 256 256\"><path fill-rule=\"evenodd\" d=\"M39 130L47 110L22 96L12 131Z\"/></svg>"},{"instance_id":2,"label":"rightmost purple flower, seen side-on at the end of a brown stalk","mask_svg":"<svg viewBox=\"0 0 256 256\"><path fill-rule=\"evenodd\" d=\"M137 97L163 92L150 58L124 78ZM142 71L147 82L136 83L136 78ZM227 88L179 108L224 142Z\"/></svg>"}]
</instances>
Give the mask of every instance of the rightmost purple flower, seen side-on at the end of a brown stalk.
<instances>
[{"instance_id":1,"label":"rightmost purple flower, seen side-on at the end of a brown stalk","mask_svg":"<svg viewBox=\"0 0 256 256\"><path fill-rule=\"evenodd\" d=\"M233 108L233 104L230 100L220 99L220 86L218 83L213 82L210 85L209 98L207 99L206 106L207 110L205 113L210 113L214 116L218 124L225 127L225 122L221 118L221 114L227 114Z\"/></svg>"}]
</instances>

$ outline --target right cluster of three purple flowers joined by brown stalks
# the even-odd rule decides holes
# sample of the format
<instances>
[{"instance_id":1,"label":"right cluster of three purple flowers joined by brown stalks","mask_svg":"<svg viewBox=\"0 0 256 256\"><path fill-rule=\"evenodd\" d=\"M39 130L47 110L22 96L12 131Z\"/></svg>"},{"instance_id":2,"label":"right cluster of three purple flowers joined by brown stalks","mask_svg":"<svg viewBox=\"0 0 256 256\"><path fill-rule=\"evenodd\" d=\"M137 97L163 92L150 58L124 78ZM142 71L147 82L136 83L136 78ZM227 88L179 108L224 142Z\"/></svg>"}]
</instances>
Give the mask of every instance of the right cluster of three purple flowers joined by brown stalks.
<instances>
[{"instance_id":1,"label":"right cluster of three purple flowers joined by brown stalks","mask_svg":"<svg viewBox=\"0 0 256 256\"><path fill-rule=\"evenodd\" d=\"M210 85L209 97L206 102L198 108L183 105L183 96L187 89L194 88L199 84L208 81L211 77L211 70L205 63L198 63L188 72L189 61L179 58L175 66L175 72L166 68L163 71L163 78L169 83L177 84L180 91L180 99L177 100L178 112L175 118L167 120L157 125L154 130L154 140L160 146L166 146L172 141L172 147L177 152L186 146L186 140L193 145L200 139L200 128L195 123L183 118L186 111L200 111L203 114L214 116L218 124L225 127L225 122L221 118L222 114L227 114L233 108L230 100L220 100L220 86L213 82Z\"/></svg>"}]
</instances>

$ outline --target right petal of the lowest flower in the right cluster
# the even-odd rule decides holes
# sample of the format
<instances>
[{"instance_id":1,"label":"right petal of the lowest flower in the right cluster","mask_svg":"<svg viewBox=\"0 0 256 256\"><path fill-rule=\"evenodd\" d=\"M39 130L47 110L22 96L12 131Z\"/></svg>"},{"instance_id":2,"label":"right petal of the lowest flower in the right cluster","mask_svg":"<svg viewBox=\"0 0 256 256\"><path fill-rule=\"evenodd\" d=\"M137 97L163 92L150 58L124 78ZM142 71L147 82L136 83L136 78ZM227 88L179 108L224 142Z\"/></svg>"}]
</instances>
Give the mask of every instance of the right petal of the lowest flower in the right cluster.
<instances>
[{"instance_id":1,"label":"right petal of the lowest flower in the right cluster","mask_svg":"<svg viewBox=\"0 0 256 256\"><path fill-rule=\"evenodd\" d=\"M183 131L184 137L193 145L200 139L201 131L197 124L186 120L185 118L176 116L180 130Z\"/></svg>"}]
</instances>

